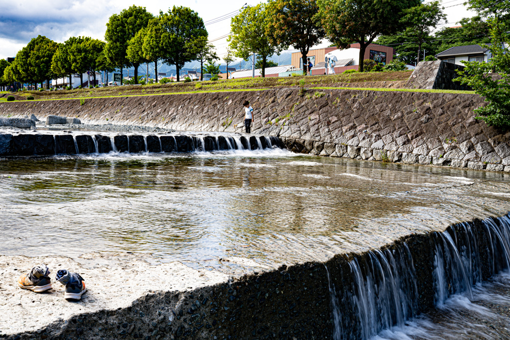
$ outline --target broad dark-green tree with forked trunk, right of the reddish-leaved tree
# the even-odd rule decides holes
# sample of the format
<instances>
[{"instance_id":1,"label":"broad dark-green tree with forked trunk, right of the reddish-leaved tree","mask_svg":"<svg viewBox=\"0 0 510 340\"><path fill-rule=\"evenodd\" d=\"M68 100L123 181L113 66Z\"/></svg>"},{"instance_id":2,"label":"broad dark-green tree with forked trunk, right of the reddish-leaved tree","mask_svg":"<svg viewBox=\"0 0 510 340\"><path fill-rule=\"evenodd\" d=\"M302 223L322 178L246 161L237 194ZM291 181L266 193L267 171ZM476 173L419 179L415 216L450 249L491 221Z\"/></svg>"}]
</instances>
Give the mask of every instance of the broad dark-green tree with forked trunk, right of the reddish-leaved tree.
<instances>
[{"instance_id":1,"label":"broad dark-green tree with forked trunk, right of the reddish-leaved tree","mask_svg":"<svg viewBox=\"0 0 510 340\"><path fill-rule=\"evenodd\" d=\"M420 0L318 0L322 23L338 48L360 44L360 72L365 51L379 35L403 29L403 10L420 5Z\"/></svg>"}]
</instances>

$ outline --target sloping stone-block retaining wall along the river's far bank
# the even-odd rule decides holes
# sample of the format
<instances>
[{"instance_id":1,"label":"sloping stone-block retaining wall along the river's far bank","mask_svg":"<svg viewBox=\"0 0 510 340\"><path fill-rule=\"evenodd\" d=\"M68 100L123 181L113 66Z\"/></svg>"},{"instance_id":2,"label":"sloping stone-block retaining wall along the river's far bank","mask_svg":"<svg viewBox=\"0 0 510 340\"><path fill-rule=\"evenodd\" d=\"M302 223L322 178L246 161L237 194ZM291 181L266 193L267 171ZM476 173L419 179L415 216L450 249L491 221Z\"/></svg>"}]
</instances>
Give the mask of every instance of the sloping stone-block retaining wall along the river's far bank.
<instances>
[{"instance_id":1,"label":"sloping stone-block retaining wall along the river's far bank","mask_svg":"<svg viewBox=\"0 0 510 340\"><path fill-rule=\"evenodd\" d=\"M474 119L474 94L365 90L246 92L4 102L0 115L49 114L82 121L242 132L248 99L254 134L324 156L510 172L510 132Z\"/></svg>"}]
</instances>

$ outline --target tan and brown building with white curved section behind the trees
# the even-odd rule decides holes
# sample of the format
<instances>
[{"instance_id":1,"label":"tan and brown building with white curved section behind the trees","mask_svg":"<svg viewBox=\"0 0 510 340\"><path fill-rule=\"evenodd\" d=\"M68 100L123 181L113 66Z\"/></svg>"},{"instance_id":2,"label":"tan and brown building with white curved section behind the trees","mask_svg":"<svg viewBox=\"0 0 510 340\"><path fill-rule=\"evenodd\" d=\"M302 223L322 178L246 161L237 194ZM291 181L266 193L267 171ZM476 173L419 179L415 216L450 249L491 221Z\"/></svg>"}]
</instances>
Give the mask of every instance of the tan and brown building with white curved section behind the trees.
<instances>
[{"instance_id":1,"label":"tan and brown building with white curved section behind the trees","mask_svg":"<svg viewBox=\"0 0 510 340\"><path fill-rule=\"evenodd\" d=\"M326 55L336 57L335 73L342 73L347 69L358 69L360 65L360 44L351 44L349 48L338 49L337 47L316 48L308 51L307 58L314 65L312 75L324 74ZM291 56L291 64L298 69L303 69L301 52L295 52ZM376 60L378 63L389 63L393 60L393 47L370 44L365 50L365 59ZM363 61L362 61L363 62Z\"/></svg>"}]
</instances>

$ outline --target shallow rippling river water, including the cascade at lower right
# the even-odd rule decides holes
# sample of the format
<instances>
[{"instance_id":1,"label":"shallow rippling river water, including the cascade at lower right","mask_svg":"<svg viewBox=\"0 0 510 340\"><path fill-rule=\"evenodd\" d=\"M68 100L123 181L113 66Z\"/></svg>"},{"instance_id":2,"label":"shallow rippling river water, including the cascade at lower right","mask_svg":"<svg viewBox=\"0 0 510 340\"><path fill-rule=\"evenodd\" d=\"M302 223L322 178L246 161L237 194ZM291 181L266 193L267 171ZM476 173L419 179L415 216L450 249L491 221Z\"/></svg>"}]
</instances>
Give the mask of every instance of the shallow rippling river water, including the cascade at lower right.
<instances>
[{"instance_id":1,"label":"shallow rippling river water, including the cascade at lower right","mask_svg":"<svg viewBox=\"0 0 510 340\"><path fill-rule=\"evenodd\" d=\"M502 293L510 281L509 220L484 222L489 255L480 255L473 225L442 230L508 212L507 174L251 151L235 138L227 143L237 149L3 160L0 254L132 252L241 273L325 261L437 230L436 308L420 314L419 273L407 244L373 250L349 261L348 293L327 272L335 339L471 338L466 328L476 329L473 338L504 338L489 326L478 330L473 320L481 315L500 330L509 326L489 306L498 299L510 311ZM491 268L481 268L482 255L490 256ZM497 276L484 281L484 270Z\"/></svg>"}]
</instances>

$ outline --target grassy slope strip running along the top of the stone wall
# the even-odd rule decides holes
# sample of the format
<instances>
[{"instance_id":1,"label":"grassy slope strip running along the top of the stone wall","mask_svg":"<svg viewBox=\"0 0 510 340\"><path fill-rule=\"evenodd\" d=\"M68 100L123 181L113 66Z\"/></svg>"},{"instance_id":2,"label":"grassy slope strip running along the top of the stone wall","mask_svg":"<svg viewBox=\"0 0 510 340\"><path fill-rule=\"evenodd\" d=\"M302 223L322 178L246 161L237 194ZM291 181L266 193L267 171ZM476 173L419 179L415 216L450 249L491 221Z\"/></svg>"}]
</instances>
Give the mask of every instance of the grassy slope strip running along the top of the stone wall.
<instances>
[{"instance_id":1,"label":"grassy slope strip running along the top of the stone wall","mask_svg":"<svg viewBox=\"0 0 510 340\"><path fill-rule=\"evenodd\" d=\"M216 82L192 82L170 83L131 86L109 86L97 89L77 89L62 91L22 91L17 95L27 97L32 95L35 100L75 99L75 98L106 98L158 94L184 94L199 92L229 92L229 91L253 91L270 88L289 88L299 86L304 80L305 87L311 89L358 89L358 90L381 90L381 91L410 91L410 92L448 92L448 93L473 93L471 91L441 91L419 89L389 89L368 87L345 87L348 83L360 85L367 82L401 82L409 79L411 71L405 72L365 72L337 74L328 76L299 76L299 77L271 77L271 78L244 78L239 80L220 80Z\"/></svg>"}]
</instances>

